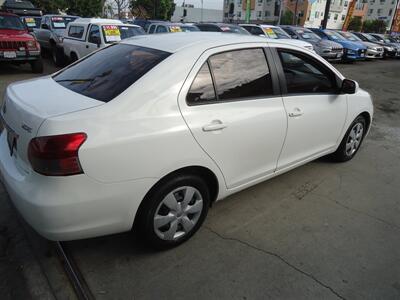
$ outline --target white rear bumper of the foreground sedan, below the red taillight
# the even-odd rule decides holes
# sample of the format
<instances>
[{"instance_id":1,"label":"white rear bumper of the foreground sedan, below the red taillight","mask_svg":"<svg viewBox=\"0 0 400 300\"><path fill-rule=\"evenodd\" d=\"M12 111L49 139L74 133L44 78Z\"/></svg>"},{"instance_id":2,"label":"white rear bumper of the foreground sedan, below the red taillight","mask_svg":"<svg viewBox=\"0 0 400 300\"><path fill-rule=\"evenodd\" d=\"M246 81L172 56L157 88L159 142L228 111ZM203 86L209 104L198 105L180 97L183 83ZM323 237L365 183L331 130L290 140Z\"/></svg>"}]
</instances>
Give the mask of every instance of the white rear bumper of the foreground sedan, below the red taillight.
<instances>
[{"instance_id":1,"label":"white rear bumper of the foreground sedan, below the red taillight","mask_svg":"<svg viewBox=\"0 0 400 300\"><path fill-rule=\"evenodd\" d=\"M0 172L15 207L42 236L75 240L131 229L136 211L156 179L113 184L85 174L47 177L20 170L0 136Z\"/></svg>"}]
</instances>

